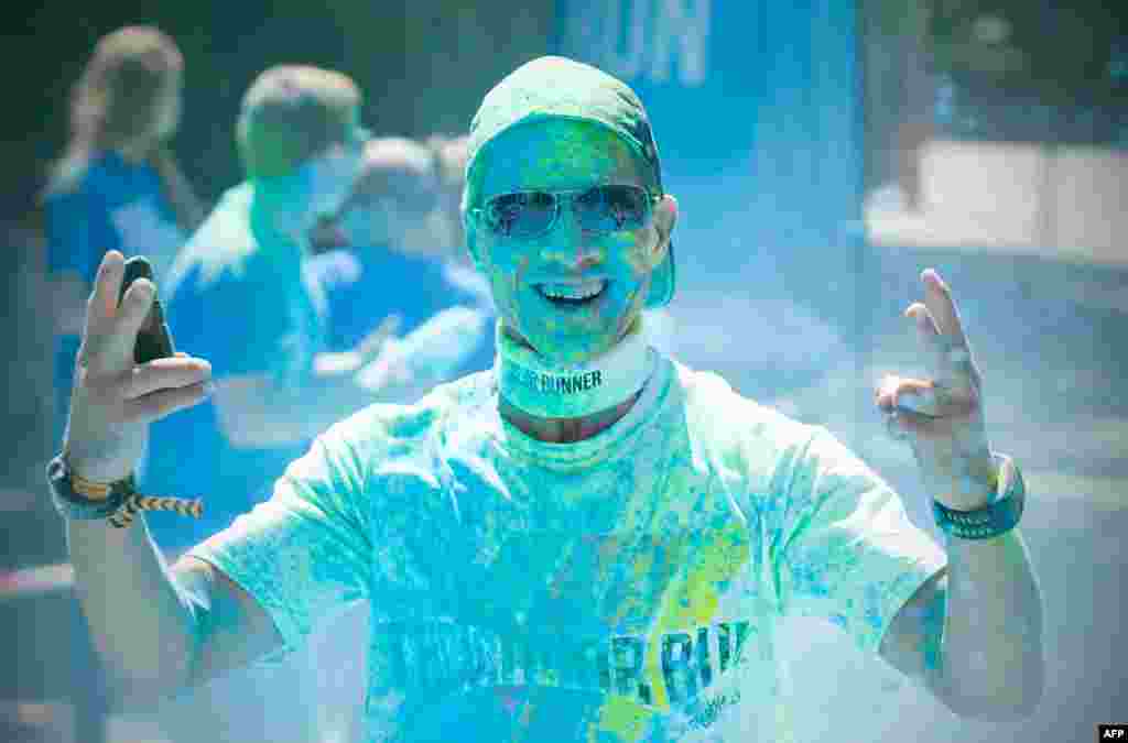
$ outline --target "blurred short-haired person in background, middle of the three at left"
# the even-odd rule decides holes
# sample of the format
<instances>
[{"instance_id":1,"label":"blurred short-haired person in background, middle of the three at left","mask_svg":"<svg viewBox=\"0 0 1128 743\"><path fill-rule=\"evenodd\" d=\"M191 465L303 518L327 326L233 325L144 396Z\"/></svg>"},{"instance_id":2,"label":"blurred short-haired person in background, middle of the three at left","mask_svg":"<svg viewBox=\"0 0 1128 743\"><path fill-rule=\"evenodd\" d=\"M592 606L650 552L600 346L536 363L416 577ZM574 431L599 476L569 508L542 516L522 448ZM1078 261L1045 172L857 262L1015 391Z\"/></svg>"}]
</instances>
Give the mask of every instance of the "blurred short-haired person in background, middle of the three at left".
<instances>
[{"instance_id":1,"label":"blurred short-haired person in background, middle of the three at left","mask_svg":"<svg viewBox=\"0 0 1128 743\"><path fill-rule=\"evenodd\" d=\"M270 68L244 96L246 178L222 194L162 291L177 350L208 359L215 384L208 405L153 425L140 468L148 492L208 496L197 520L150 514L169 557L265 498L315 435L377 399L358 372L391 326L373 322L367 339L332 350L324 276L309 264L317 215L340 209L361 169L361 103L351 78L308 65ZM310 653L256 669L166 706L159 722L177 742L327 735L314 663Z\"/></svg>"}]
</instances>

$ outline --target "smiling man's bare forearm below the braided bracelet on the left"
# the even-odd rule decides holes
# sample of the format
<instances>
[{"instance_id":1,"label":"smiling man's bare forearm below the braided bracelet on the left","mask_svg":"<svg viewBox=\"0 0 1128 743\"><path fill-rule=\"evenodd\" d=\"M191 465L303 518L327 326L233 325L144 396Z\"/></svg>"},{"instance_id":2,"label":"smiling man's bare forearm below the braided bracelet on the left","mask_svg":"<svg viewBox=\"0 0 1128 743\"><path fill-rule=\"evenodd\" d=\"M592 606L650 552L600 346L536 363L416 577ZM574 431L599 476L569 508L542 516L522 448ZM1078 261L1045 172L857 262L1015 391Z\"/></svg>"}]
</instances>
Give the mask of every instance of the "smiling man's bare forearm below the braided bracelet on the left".
<instances>
[{"instance_id":1,"label":"smiling man's bare forearm below the braided bracelet on the left","mask_svg":"<svg viewBox=\"0 0 1128 743\"><path fill-rule=\"evenodd\" d=\"M187 684L196 616L139 514L133 525L71 521L67 539L76 592L118 698Z\"/></svg>"}]
</instances>

